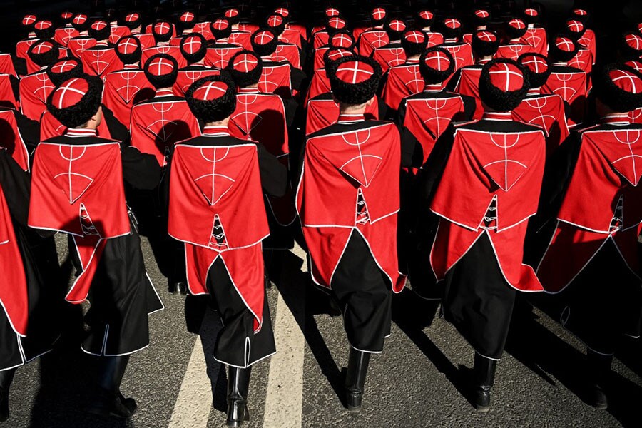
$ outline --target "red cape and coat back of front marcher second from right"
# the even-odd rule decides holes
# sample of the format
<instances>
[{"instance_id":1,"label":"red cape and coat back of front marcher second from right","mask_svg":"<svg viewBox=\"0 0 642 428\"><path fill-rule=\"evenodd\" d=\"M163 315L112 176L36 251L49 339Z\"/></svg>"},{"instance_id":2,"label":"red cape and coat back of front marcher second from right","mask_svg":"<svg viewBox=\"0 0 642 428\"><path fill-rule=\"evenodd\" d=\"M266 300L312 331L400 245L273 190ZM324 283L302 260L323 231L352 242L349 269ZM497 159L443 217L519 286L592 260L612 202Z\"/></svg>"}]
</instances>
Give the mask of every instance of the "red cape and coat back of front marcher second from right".
<instances>
[{"instance_id":1,"label":"red cape and coat back of front marcher second from right","mask_svg":"<svg viewBox=\"0 0 642 428\"><path fill-rule=\"evenodd\" d=\"M537 211L545 144L541 131L457 129L430 205L442 217L430 255L438 279L444 278L475 240L488 233L506 281L518 290L542 290L533 268L522 260L526 220ZM481 226L494 198L497 228L486 230Z\"/></svg>"}]
</instances>

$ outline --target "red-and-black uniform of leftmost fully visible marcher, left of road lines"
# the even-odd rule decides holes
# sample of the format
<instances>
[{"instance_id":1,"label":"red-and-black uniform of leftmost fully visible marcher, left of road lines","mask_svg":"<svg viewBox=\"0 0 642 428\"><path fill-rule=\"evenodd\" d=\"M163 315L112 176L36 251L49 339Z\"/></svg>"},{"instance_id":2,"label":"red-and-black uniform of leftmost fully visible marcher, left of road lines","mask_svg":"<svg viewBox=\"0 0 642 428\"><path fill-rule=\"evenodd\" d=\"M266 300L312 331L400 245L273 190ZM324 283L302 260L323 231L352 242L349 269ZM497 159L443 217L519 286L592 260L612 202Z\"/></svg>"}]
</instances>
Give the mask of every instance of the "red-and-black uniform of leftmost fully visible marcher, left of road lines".
<instances>
[{"instance_id":1,"label":"red-and-black uniform of leftmost fully visible marcher, left of road lines","mask_svg":"<svg viewBox=\"0 0 642 428\"><path fill-rule=\"evenodd\" d=\"M36 148L29 226L69 237L80 276L66 300L91 300L91 332L81 345L89 354L127 355L149 344L148 314L163 304L145 270L123 178L153 188L159 176L151 156L93 130L70 129Z\"/></svg>"}]
</instances>

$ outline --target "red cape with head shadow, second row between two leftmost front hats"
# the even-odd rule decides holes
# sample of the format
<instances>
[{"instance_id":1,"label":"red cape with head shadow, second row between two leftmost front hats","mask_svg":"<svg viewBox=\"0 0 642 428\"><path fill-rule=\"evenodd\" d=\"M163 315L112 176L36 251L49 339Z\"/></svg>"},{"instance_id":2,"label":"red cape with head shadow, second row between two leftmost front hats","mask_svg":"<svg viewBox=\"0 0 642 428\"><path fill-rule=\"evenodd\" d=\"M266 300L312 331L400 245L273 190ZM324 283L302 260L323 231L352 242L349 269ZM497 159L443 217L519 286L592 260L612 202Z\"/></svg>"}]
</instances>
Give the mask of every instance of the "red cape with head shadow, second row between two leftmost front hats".
<instances>
[{"instance_id":1,"label":"red cape with head shadow, second row between two leftmost front hats","mask_svg":"<svg viewBox=\"0 0 642 428\"><path fill-rule=\"evenodd\" d=\"M157 99L131 109L131 145L141 153L153 154L164 166L173 144L199 136L200 128L187 101Z\"/></svg>"}]
</instances>

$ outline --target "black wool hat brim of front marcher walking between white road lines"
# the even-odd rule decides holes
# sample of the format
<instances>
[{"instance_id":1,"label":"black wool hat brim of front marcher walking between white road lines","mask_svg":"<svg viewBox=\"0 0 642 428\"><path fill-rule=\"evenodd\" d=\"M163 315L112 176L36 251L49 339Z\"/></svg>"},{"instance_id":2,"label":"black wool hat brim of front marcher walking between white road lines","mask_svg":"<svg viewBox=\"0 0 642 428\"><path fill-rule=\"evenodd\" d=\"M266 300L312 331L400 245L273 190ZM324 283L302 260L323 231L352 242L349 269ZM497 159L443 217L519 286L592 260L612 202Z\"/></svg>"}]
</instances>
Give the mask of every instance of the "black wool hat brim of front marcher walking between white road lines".
<instances>
[{"instance_id":1,"label":"black wool hat brim of front marcher walking between white road lines","mask_svg":"<svg viewBox=\"0 0 642 428\"><path fill-rule=\"evenodd\" d=\"M194 99L194 92L200 88L200 86L203 86L203 84L210 81L223 81L226 83L228 85L228 90L225 91L225 95L212 101L200 101ZM185 99L187 100L188 106L193 115L204 123L223 121L223 119L232 116L232 113L234 113L236 109L236 91L234 88L234 82L226 75L225 72L221 73L220 76L208 76L200 78L198 81L192 83L188 91L185 93Z\"/></svg>"}]
</instances>

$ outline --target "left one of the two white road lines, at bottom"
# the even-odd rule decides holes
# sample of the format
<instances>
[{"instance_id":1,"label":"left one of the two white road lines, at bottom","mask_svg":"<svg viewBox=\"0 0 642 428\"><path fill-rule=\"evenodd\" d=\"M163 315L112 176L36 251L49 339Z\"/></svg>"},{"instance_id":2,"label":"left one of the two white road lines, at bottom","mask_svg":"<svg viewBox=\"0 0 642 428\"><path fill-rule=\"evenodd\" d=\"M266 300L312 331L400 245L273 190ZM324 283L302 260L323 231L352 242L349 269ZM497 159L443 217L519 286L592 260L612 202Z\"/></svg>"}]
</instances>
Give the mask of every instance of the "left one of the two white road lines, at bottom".
<instances>
[{"instance_id":1,"label":"left one of the two white road lines, at bottom","mask_svg":"<svg viewBox=\"0 0 642 428\"><path fill-rule=\"evenodd\" d=\"M203 345L198 337L188 363L169 428L207 427L212 408L212 391L205 364Z\"/></svg>"}]
</instances>

